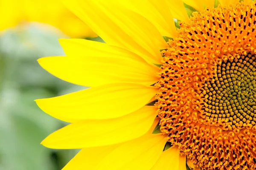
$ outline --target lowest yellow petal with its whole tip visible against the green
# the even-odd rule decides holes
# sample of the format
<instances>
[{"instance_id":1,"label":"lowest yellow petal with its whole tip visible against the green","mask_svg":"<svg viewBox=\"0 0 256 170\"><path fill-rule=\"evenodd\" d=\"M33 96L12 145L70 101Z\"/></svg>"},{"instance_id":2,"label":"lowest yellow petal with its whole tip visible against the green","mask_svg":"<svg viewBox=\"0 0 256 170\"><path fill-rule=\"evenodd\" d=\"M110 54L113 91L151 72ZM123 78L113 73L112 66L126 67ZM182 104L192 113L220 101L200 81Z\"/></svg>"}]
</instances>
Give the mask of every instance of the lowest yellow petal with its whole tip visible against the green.
<instances>
[{"instance_id":1,"label":"lowest yellow petal with its whole tip visible against the green","mask_svg":"<svg viewBox=\"0 0 256 170\"><path fill-rule=\"evenodd\" d=\"M55 149L118 144L143 136L156 116L155 107L144 106L115 119L79 121L50 134L41 144Z\"/></svg>"}]
</instances>

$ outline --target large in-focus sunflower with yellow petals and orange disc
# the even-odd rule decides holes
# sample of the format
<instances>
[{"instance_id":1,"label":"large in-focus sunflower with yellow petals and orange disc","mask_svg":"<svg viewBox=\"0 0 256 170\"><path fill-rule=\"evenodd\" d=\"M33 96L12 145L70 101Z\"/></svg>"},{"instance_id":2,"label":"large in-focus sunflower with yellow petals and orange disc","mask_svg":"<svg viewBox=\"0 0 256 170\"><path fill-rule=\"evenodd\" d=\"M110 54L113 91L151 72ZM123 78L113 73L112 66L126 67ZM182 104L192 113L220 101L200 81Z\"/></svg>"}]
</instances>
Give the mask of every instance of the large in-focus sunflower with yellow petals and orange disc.
<instances>
[{"instance_id":1,"label":"large in-focus sunflower with yellow petals and orange disc","mask_svg":"<svg viewBox=\"0 0 256 170\"><path fill-rule=\"evenodd\" d=\"M36 100L70 122L42 144L81 148L63 170L256 170L253 2L63 1L106 42L38 60L90 87Z\"/></svg>"}]
</instances>

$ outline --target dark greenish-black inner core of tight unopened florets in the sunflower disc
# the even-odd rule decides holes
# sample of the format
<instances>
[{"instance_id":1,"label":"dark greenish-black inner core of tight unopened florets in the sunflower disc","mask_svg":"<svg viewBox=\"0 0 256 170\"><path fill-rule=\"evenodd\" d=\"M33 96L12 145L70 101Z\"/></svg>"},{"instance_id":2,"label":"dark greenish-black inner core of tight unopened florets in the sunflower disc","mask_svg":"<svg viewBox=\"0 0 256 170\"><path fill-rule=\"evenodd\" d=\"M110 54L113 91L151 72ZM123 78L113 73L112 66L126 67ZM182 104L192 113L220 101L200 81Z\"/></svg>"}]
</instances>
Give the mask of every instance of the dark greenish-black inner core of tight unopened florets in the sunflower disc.
<instances>
[{"instance_id":1,"label":"dark greenish-black inner core of tight unopened florets in the sunflower disc","mask_svg":"<svg viewBox=\"0 0 256 170\"><path fill-rule=\"evenodd\" d=\"M221 62L217 77L206 81L203 115L230 129L256 125L256 62L254 55Z\"/></svg>"}]
</instances>

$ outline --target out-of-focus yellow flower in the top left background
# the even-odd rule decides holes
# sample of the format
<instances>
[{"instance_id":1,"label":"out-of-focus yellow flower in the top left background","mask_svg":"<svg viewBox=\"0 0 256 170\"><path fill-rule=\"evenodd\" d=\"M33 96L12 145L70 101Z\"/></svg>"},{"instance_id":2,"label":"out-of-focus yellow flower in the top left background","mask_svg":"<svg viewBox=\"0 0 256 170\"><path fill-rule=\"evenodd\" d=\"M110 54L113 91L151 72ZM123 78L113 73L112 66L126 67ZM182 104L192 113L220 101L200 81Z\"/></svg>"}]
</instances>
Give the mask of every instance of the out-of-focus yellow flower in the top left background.
<instances>
[{"instance_id":1,"label":"out-of-focus yellow flower in the top left background","mask_svg":"<svg viewBox=\"0 0 256 170\"><path fill-rule=\"evenodd\" d=\"M1 0L0 31L25 22L46 23L73 38L96 34L58 0Z\"/></svg>"}]
</instances>

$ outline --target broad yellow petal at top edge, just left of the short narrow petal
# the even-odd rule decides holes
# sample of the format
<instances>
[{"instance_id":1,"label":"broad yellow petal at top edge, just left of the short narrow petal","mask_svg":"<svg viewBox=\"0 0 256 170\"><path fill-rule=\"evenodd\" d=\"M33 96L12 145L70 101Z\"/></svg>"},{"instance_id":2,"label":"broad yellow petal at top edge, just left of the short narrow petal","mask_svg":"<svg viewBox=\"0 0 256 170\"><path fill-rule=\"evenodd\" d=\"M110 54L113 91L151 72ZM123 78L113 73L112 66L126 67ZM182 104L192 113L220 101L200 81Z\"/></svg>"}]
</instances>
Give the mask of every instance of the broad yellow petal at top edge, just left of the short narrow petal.
<instances>
[{"instance_id":1,"label":"broad yellow petal at top edge, just left of the short narrow petal","mask_svg":"<svg viewBox=\"0 0 256 170\"><path fill-rule=\"evenodd\" d=\"M161 35L172 38L177 37L172 13L166 0L120 0L119 3L148 19L159 30Z\"/></svg>"}]
</instances>

